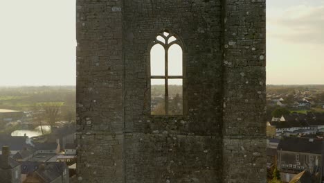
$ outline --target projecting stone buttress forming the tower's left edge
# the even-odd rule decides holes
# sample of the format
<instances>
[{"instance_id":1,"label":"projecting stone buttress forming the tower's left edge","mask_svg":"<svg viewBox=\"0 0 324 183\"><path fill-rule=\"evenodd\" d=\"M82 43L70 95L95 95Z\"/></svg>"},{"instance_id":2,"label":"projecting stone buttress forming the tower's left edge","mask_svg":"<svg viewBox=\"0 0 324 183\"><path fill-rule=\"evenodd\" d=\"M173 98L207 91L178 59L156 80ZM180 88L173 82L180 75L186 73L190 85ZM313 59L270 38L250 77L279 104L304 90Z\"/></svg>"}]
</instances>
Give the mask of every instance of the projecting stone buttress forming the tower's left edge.
<instances>
[{"instance_id":1,"label":"projecting stone buttress forming the tower's left edge","mask_svg":"<svg viewBox=\"0 0 324 183\"><path fill-rule=\"evenodd\" d=\"M123 1L77 1L79 182L124 182Z\"/></svg>"}]
</instances>

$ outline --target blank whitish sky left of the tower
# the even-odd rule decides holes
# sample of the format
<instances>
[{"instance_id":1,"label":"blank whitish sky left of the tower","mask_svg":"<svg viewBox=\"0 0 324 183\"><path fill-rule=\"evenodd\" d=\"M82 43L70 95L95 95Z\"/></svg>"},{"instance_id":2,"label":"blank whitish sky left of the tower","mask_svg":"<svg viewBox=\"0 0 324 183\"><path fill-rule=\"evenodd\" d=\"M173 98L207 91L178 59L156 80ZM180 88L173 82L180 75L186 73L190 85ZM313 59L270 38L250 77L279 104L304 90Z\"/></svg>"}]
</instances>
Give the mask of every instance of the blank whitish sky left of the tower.
<instances>
[{"instance_id":1,"label":"blank whitish sky left of the tower","mask_svg":"<svg viewBox=\"0 0 324 183\"><path fill-rule=\"evenodd\" d=\"M0 85L75 85L75 0L0 0Z\"/></svg>"}]
</instances>

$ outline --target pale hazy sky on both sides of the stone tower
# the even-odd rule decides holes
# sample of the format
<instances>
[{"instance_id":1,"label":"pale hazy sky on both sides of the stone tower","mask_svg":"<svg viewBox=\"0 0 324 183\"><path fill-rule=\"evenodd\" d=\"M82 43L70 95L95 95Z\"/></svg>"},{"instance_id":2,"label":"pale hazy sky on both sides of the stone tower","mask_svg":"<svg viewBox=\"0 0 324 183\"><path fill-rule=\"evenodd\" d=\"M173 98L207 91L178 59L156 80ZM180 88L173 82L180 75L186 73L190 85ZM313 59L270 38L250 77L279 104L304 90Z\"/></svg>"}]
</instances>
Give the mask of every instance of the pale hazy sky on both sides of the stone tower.
<instances>
[{"instance_id":1,"label":"pale hazy sky on both sides of the stone tower","mask_svg":"<svg viewBox=\"0 0 324 183\"><path fill-rule=\"evenodd\" d=\"M0 1L0 85L75 85L75 0ZM267 1L267 84L324 84L324 0Z\"/></svg>"}]
</instances>

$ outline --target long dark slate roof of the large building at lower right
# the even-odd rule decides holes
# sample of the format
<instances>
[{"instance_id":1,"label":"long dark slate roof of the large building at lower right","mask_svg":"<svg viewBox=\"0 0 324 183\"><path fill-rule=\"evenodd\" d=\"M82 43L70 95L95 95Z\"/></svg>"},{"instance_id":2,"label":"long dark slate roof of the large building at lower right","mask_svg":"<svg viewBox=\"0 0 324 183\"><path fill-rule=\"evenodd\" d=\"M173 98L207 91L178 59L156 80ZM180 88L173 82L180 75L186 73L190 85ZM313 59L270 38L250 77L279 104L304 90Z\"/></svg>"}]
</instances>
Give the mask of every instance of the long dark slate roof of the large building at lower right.
<instances>
[{"instance_id":1,"label":"long dark slate roof of the large building at lower right","mask_svg":"<svg viewBox=\"0 0 324 183\"><path fill-rule=\"evenodd\" d=\"M300 137L285 137L279 145L278 150L285 150L299 153L322 154L324 149L323 139L309 139Z\"/></svg>"}]
</instances>

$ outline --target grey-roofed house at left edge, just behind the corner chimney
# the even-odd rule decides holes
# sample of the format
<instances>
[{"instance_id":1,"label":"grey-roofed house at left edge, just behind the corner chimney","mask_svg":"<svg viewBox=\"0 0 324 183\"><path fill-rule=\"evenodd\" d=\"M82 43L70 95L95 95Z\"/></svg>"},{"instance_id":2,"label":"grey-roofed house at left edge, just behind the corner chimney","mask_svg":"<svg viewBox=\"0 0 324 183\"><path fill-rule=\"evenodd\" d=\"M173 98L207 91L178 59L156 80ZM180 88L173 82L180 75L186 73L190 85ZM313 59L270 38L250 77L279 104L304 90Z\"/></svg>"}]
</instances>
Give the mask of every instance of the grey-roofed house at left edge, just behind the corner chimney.
<instances>
[{"instance_id":1,"label":"grey-roofed house at left edge, just behind the corner chimney","mask_svg":"<svg viewBox=\"0 0 324 183\"><path fill-rule=\"evenodd\" d=\"M10 154L15 155L19 150L27 146L26 140L28 137L12 137L10 135L0 135L0 147L10 146ZM0 154L1 154L0 150Z\"/></svg>"}]
</instances>

